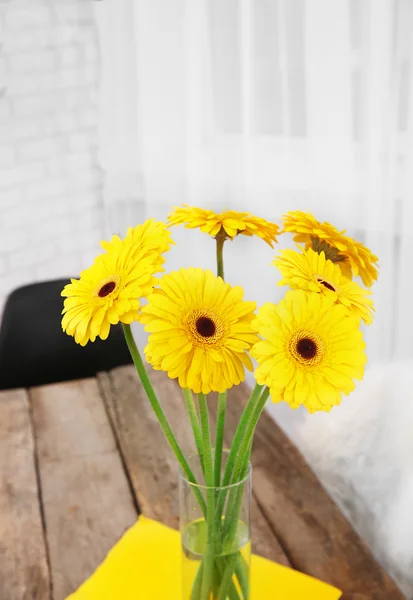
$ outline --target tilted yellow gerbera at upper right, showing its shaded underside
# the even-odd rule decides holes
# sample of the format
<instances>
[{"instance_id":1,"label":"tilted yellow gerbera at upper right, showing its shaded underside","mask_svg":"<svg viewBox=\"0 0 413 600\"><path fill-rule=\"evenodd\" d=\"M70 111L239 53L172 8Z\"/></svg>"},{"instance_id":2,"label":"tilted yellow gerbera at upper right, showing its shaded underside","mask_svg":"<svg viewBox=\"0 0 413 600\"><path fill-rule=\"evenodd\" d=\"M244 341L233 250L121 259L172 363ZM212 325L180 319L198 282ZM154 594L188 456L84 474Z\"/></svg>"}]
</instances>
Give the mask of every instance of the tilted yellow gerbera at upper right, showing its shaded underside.
<instances>
[{"instance_id":1,"label":"tilted yellow gerbera at upper right, showing its shaded underside","mask_svg":"<svg viewBox=\"0 0 413 600\"><path fill-rule=\"evenodd\" d=\"M326 258L338 263L343 275L351 278L360 275L364 285L371 287L377 279L379 259L366 246L338 231L330 223L320 223L311 213L299 210L283 216L284 231L295 233L296 242L304 242L306 247L316 252L325 252Z\"/></svg>"}]
</instances>

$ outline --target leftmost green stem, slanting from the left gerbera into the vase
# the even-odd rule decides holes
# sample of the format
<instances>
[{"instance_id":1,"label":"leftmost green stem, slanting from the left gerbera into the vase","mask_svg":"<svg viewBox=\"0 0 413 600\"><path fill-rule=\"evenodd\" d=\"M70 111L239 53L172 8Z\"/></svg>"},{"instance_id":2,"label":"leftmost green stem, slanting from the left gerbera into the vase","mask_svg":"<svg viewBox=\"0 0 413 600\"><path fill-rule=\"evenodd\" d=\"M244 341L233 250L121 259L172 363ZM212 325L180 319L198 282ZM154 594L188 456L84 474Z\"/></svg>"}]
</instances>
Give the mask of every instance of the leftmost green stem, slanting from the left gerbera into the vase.
<instances>
[{"instance_id":1,"label":"leftmost green stem, slanting from the left gerbera into the vase","mask_svg":"<svg viewBox=\"0 0 413 600\"><path fill-rule=\"evenodd\" d=\"M122 327L123 327L123 332L125 334L126 343L129 348L129 352L132 356L132 360L136 367L136 371L138 372L143 389L145 390L148 400L151 403L153 412L155 413L156 418L159 421L162 431L163 431L170 447L172 448L173 453L175 454L179 464L181 465L181 469L182 469L183 473L185 474L186 478L188 479L188 481L190 483L196 484L196 479L192 472L192 469L189 466L189 464L185 458L185 455L182 452L182 450L177 442L174 432L172 431L171 426L168 423L168 419L166 418L166 415L163 411L163 408L160 405L159 400L156 396L155 390L152 387L152 383L149 379L148 373L146 372L145 365L143 364L143 361L142 361L142 357L140 355L138 347L136 346L135 340L133 339L131 327L130 327L130 325L125 325L125 324L123 324ZM194 487L194 493L197 497L197 500L202 509L202 512L205 514L205 512L206 512L205 501L202 497L200 490L198 488Z\"/></svg>"}]
</instances>

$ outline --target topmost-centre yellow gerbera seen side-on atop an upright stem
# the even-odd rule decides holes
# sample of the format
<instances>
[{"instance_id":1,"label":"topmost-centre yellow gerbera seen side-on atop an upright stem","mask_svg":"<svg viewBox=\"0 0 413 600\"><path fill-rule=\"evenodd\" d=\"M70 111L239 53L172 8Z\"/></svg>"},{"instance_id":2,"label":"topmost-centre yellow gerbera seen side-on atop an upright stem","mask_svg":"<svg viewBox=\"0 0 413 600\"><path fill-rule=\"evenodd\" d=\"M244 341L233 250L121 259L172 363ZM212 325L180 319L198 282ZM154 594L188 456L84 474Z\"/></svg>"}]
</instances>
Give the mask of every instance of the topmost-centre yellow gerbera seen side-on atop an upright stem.
<instances>
[{"instance_id":1,"label":"topmost-centre yellow gerbera seen side-on atop an upright stem","mask_svg":"<svg viewBox=\"0 0 413 600\"><path fill-rule=\"evenodd\" d=\"M234 238L238 234L256 235L273 247L277 241L279 227L250 213L227 210L214 213L212 210L192 206L175 207L168 216L169 225L185 225L188 229L199 228L212 237L223 235Z\"/></svg>"}]
</instances>

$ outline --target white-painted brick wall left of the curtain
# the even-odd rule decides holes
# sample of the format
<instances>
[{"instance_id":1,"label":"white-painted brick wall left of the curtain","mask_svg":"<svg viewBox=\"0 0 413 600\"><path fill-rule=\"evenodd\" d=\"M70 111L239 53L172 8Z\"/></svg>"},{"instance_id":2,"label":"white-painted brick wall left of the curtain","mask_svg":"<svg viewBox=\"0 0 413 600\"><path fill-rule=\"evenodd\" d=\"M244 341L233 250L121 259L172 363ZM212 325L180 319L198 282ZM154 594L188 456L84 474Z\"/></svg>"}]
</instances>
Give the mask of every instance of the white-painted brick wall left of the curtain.
<instances>
[{"instance_id":1,"label":"white-painted brick wall left of the curtain","mask_svg":"<svg viewBox=\"0 0 413 600\"><path fill-rule=\"evenodd\" d=\"M91 2L0 0L0 313L98 249L98 61Z\"/></svg>"}]
</instances>

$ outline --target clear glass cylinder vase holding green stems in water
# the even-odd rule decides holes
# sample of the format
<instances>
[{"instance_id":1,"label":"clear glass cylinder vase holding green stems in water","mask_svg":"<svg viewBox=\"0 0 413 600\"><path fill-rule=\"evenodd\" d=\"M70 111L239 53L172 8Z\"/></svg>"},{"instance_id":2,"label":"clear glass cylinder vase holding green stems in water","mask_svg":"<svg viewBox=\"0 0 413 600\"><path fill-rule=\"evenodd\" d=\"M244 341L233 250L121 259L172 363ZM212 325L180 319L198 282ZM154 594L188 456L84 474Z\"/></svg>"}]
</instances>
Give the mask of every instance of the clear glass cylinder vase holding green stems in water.
<instances>
[{"instance_id":1,"label":"clear glass cylinder vase holding green stems in water","mask_svg":"<svg viewBox=\"0 0 413 600\"><path fill-rule=\"evenodd\" d=\"M227 459L224 451L220 481ZM197 484L180 472L182 600L248 600L251 466L237 483L208 487L199 455L188 462Z\"/></svg>"}]
</instances>

